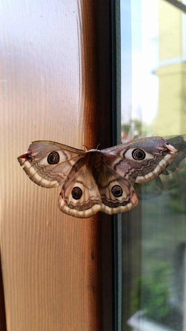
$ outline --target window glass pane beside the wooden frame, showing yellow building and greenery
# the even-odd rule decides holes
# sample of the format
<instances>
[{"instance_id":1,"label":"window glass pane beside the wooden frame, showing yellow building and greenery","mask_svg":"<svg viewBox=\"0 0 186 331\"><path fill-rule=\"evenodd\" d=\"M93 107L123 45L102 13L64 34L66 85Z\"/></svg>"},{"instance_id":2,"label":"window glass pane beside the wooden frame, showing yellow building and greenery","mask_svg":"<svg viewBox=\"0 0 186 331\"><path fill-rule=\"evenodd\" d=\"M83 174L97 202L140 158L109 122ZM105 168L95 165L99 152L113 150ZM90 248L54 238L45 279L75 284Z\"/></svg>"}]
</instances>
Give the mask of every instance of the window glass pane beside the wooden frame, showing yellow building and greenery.
<instances>
[{"instance_id":1,"label":"window glass pane beside the wooden frame, showing yellow building and greenery","mask_svg":"<svg viewBox=\"0 0 186 331\"><path fill-rule=\"evenodd\" d=\"M186 15L165 0L120 10L122 142L186 133ZM185 160L160 179L122 214L122 330L186 330Z\"/></svg>"}]
</instances>

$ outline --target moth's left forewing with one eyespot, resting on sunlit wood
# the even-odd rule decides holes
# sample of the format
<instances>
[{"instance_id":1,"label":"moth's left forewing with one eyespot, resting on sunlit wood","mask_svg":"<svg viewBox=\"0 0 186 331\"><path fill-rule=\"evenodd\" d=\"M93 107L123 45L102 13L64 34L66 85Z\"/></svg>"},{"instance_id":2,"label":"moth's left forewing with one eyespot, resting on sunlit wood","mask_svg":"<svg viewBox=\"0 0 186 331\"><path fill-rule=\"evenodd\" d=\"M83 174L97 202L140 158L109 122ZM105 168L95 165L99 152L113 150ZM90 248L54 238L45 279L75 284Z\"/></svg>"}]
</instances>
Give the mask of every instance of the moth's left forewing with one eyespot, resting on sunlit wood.
<instances>
[{"instance_id":1,"label":"moth's left forewing with one eyespot, resting on sunlit wood","mask_svg":"<svg viewBox=\"0 0 186 331\"><path fill-rule=\"evenodd\" d=\"M62 185L72 166L85 155L85 151L63 144L34 141L18 161L33 182L51 188Z\"/></svg>"}]
</instances>

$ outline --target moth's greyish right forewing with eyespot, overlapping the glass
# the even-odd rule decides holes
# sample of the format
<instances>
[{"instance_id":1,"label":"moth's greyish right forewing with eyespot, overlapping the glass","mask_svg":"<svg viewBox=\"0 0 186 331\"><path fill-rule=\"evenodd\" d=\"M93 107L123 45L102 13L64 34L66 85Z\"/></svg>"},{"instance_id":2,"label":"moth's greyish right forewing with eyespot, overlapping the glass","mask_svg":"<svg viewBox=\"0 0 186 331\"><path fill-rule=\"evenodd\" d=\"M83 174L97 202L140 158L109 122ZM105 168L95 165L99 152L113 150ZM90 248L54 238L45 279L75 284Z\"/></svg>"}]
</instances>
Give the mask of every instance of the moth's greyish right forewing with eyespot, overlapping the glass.
<instances>
[{"instance_id":1,"label":"moth's greyish right forewing with eyespot, overlapping the glass","mask_svg":"<svg viewBox=\"0 0 186 331\"><path fill-rule=\"evenodd\" d=\"M149 182L159 176L179 153L161 137L137 139L102 152L105 163L124 178L136 183Z\"/></svg>"}]
</instances>

